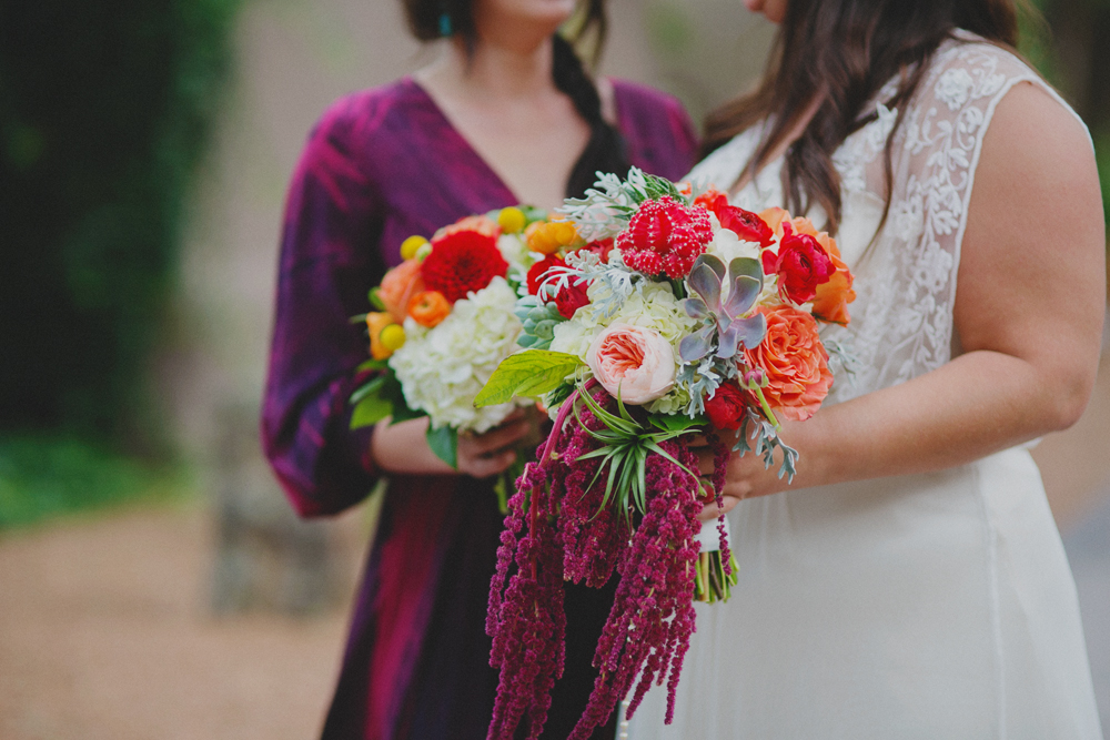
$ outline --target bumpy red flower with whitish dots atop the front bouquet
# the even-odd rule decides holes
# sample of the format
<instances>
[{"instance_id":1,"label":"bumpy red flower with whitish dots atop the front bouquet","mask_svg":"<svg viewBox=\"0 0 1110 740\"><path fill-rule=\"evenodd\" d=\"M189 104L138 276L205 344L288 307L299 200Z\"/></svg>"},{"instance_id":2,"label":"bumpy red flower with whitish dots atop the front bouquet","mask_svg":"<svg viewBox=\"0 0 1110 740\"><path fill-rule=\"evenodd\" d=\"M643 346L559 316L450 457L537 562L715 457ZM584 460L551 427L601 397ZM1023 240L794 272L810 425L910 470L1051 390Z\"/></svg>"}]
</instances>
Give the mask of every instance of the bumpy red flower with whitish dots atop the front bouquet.
<instances>
[{"instance_id":1,"label":"bumpy red flower with whitish dots atop the front bouquet","mask_svg":"<svg viewBox=\"0 0 1110 740\"><path fill-rule=\"evenodd\" d=\"M644 201L628 227L617 235L625 264L647 275L685 277L713 240L705 209L677 203L664 195Z\"/></svg>"}]
</instances>

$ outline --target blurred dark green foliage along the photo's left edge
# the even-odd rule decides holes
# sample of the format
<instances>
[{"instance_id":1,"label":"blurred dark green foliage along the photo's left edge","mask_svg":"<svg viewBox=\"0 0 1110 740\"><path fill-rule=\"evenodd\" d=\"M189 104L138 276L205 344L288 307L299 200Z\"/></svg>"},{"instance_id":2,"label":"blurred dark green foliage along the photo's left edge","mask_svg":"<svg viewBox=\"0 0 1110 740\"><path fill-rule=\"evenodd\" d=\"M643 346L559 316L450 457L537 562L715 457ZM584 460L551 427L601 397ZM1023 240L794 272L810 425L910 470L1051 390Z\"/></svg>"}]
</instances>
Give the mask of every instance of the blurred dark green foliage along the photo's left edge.
<instances>
[{"instance_id":1,"label":"blurred dark green foliage along the photo's left edge","mask_svg":"<svg viewBox=\"0 0 1110 740\"><path fill-rule=\"evenodd\" d=\"M164 479L144 377L238 6L0 3L0 528Z\"/></svg>"}]
</instances>

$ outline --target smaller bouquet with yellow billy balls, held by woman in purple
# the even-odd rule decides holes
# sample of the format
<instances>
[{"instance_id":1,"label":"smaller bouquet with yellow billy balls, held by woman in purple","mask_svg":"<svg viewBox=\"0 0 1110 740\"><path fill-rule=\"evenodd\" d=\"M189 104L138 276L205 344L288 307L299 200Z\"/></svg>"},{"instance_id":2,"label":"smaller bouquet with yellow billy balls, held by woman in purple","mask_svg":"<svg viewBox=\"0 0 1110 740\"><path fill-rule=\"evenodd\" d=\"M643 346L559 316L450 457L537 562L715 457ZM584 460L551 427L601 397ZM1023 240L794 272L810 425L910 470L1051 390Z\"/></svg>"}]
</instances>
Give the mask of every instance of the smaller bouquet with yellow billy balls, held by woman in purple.
<instances>
[{"instance_id":1,"label":"smaller bouquet with yellow billy balls, held by woman in purple","mask_svg":"<svg viewBox=\"0 0 1110 740\"><path fill-rule=\"evenodd\" d=\"M427 416L432 450L456 465L460 432L483 433L517 406L509 398L476 408L474 397L497 365L519 351L517 290L542 252L573 244L569 224L549 224L526 206L468 216L427 241L412 236L404 259L370 292L377 311L357 317L370 332L372 379L351 397L353 428L385 417ZM559 241L562 240L562 241Z\"/></svg>"}]
</instances>

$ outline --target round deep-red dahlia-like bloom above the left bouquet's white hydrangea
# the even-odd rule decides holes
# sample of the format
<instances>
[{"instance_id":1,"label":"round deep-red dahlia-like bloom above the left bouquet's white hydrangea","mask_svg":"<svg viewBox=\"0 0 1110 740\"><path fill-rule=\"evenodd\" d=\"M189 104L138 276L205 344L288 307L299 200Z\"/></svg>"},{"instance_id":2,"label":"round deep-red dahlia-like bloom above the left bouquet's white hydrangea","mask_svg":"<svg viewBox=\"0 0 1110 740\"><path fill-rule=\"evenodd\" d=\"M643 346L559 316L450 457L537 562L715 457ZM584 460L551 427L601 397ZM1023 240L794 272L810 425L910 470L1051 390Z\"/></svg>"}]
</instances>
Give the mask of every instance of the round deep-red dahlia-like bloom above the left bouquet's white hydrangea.
<instances>
[{"instance_id":1,"label":"round deep-red dahlia-like bloom above the left bouquet's white hydrangea","mask_svg":"<svg viewBox=\"0 0 1110 740\"><path fill-rule=\"evenodd\" d=\"M476 231L457 231L433 240L432 253L421 264L424 287L443 293L452 304L507 272L508 263L496 239Z\"/></svg>"}]
</instances>

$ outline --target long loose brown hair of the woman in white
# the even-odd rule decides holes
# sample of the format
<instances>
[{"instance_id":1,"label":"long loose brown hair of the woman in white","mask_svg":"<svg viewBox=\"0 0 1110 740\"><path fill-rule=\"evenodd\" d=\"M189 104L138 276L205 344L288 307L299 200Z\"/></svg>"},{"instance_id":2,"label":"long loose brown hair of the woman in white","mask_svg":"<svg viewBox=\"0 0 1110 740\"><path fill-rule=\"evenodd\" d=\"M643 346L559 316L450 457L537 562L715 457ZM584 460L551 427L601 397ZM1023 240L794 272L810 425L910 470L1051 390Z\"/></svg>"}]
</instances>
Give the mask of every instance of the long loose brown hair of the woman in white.
<instances>
[{"instance_id":1,"label":"long loose brown hair of the woman in white","mask_svg":"<svg viewBox=\"0 0 1110 740\"><path fill-rule=\"evenodd\" d=\"M794 213L820 204L835 233L840 176L833 153L875 119L874 112L862 115L868 101L899 78L894 98L884 102L898 108L900 125L905 103L952 31L965 29L1011 50L1017 45L1017 2L1021 0L789 0L763 82L707 116L703 154L770 116L773 124L741 175L749 176L767 164L820 97L816 114L787 149L783 191ZM887 140L885 162L888 191L892 139ZM886 216L885 211L884 222Z\"/></svg>"}]
</instances>

